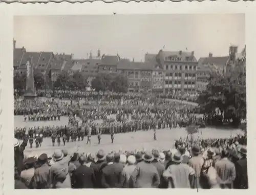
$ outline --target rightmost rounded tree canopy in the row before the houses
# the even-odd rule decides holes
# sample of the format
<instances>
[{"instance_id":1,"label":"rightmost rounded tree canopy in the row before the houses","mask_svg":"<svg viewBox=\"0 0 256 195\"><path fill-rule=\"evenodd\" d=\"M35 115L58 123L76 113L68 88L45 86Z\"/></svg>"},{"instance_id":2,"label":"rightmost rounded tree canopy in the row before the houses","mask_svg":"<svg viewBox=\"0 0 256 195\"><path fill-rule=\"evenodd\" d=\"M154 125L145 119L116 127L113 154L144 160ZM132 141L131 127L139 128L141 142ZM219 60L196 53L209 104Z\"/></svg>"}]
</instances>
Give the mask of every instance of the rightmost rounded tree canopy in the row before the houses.
<instances>
[{"instance_id":1,"label":"rightmost rounded tree canopy in the row before the houses","mask_svg":"<svg viewBox=\"0 0 256 195\"><path fill-rule=\"evenodd\" d=\"M98 74L92 80L92 88L95 91L113 91L126 93L128 90L128 80L122 75Z\"/></svg>"}]
</instances>

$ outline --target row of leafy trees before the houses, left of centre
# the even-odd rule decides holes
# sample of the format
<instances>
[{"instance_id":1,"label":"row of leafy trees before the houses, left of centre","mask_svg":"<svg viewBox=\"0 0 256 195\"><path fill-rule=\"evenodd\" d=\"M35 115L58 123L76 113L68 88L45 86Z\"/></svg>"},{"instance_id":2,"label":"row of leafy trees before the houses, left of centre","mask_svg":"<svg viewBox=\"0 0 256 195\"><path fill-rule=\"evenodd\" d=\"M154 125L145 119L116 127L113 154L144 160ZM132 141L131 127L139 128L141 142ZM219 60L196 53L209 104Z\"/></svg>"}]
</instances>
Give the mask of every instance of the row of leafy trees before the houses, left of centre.
<instances>
[{"instance_id":1,"label":"row of leafy trees before the houses, left of centre","mask_svg":"<svg viewBox=\"0 0 256 195\"><path fill-rule=\"evenodd\" d=\"M34 73L35 89L45 89L47 78L40 72ZM24 92L26 89L26 74L19 72L14 73L13 76L14 90ZM56 81L52 83L53 89L59 90L81 90L84 91L88 87L88 79L80 72L69 74L68 72L61 72ZM91 84L91 88L95 91L113 91L113 92L127 92L128 80L126 77L117 74L98 74Z\"/></svg>"}]
</instances>

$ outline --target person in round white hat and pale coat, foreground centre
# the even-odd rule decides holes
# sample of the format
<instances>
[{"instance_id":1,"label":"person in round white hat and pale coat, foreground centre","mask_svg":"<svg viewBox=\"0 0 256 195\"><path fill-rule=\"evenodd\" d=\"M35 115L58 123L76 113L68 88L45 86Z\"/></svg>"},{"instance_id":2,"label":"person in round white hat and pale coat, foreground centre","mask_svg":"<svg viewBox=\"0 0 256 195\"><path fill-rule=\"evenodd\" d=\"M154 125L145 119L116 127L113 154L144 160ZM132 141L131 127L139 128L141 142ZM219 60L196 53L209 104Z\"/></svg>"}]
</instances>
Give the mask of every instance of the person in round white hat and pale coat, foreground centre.
<instances>
[{"instance_id":1,"label":"person in round white hat and pale coat, foreground centre","mask_svg":"<svg viewBox=\"0 0 256 195\"><path fill-rule=\"evenodd\" d=\"M124 188L130 188L130 177L136 167L136 158L134 155L130 155L127 158L127 164L123 168L123 176L124 176Z\"/></svg>"}]
</instances>

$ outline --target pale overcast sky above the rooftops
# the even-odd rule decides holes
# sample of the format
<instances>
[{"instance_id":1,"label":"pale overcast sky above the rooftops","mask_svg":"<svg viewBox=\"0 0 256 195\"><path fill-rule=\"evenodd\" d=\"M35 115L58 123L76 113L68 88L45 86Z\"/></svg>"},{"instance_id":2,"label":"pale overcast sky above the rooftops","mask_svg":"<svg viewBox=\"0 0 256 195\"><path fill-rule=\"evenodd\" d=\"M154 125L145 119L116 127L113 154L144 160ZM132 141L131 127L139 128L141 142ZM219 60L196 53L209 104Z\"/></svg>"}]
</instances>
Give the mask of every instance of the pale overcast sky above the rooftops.
<instances>
[{"instance_id":1,"label":"pale overcast sky above the rooftops","mask_svg":"<svg viewBox=\"0 0 256 195\"><path fill-rule=\"evenodd\" d=\"M244 14L15 16L16 47L87 58L116 55L144 60L146 52L194 51L197 59L228 55L245 45Z\"/></svg>"}]
</instances>

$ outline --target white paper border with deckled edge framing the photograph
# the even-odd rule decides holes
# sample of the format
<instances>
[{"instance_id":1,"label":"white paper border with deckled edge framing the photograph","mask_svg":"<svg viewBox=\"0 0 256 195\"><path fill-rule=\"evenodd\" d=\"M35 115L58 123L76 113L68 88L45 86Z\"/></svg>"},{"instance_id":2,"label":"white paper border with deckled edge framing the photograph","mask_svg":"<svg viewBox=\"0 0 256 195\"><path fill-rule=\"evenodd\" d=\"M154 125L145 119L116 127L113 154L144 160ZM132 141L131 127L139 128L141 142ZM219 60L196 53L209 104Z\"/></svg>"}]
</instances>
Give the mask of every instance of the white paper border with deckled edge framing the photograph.
<instances>
[{"instance_id":1,"label":"white paper border with deckled edge framing the photograph","mask_svg":"<svg viewBox=\"0 0 256 195\"><path fill-rule=\"evenodd\" d=\"M247 149L248 149L248 181L249 189L242 193L251 193L256 188L254 164L256 162L256 126L255 98L254 98L254 65L256 47L256 3L243 2L232 3L224 0L217 2L117 2L105 4L103 2L69 4L0 4L0 195L2 194L33 194L35 190L14 190L14 150L13 150L13 16L14 15L83 15L83 14L184 14L184 13L245 13L246 34L246 83L247 83ZM25 27L26 28L26 27ZM243 28L243 27L242 27ZM1 109L2 108L2 109ZM2 112L1 112L2 110ZM52 189L49 189L52 190ZM36 194L49 194L49 190L37 190ZM239 190L230 191L233 194L241 193ZM71 194L74 189L55 189L53 193ZM122 193L148 194L148 193L197 193L196 189L83 189L76 190L77 194L90 193ZM224 194L223 189L199 190L199 193Z\"/></svg>"}]
</instances>

